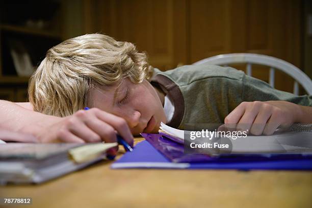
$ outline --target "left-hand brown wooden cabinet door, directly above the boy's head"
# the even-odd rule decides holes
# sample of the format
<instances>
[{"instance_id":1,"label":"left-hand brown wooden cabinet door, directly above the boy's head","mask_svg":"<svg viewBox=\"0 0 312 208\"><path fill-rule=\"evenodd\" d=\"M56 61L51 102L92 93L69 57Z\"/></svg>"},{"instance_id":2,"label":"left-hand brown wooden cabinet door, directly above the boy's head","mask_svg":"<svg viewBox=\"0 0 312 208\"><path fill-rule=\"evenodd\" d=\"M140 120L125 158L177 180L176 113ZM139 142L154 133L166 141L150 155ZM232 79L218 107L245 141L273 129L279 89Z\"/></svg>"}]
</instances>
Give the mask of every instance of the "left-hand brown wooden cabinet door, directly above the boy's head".
<instances>
[{"instance_id":1,"label":"left-hand brown wooden cabinet door, directly above the boy's head","mask_svg":"<svg viewBox=\"0 0 312 208\"><path fill-rule=\"evenodd\" d=\"M101 31L147 51L160 69L186 64L186 0L84 1L85 33Z\"/></svg>"}]
</instances>

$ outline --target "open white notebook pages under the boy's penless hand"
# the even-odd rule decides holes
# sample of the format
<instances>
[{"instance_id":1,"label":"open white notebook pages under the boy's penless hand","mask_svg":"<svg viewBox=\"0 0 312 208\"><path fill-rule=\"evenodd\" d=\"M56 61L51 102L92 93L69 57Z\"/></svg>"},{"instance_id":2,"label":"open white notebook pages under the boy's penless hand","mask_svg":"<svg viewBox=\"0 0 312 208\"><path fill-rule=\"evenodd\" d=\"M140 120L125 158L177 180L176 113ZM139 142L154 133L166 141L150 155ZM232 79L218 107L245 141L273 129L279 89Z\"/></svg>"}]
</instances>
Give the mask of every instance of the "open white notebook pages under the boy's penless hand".
<instances>
[{"instance_id":1,"label":"open white notebook pages under the boy's penless hand","mask_svg":"<svg viewBox=\"0 0 312 208\"><path fill-rule=\"evenodd\" d=\"M304 128L303 128L304 127ZM312 131L306 127L306 124L294 124L287 131L277 129L270 136L253 136L246 135L238 138L236 134L231 136L216 136L217 132L209 132L210 138L200 136L195 139L190 139L191 132L172 128L164 123L161 123L159 133L166 136L175 142L185 144L207 144L215 143L228 144L227 149L219 148L219 150L231 153L300 153L311 152L312 150ZM194 133L194 132L193 132ZM212 134L210 134L212 133ZM226 132L228 133L228 132ZM235 132L231 132L235 133ZM193 134L194 136L195 134ZM222 135L222 134L220 134ZM186 147L187 147L186 146ZM201 149L203 150L203 149ZM206 148L205 150L211 150ZM214 149L215 150L215 149Z\"/></svg>"}]
</instances>

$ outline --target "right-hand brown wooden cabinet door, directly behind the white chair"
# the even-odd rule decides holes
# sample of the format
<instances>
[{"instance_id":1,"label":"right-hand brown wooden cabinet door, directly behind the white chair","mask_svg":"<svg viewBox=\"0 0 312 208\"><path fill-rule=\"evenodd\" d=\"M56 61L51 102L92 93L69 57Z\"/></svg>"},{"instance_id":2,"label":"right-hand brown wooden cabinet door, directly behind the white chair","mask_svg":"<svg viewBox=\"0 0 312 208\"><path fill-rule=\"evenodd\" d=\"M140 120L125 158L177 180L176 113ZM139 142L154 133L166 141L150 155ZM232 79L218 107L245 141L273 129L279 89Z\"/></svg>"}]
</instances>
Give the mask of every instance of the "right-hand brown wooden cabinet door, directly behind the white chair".
<instances>
[{"instance_id":1,"label":"right-hand brown wooden cabinet door, directly behind the white chair","mask_svg":"<svg viewBox=\"0 0 312 208\"><path fill-rule=\"evenodd\" d=\"M199 0L189 4L191 63L219 54L256 53L300 68L300 1ZM252 76L268 81L268 68L253 68ZM292 92L293 80L277 72L275 87Z\"/></svg>"}]
</instances>

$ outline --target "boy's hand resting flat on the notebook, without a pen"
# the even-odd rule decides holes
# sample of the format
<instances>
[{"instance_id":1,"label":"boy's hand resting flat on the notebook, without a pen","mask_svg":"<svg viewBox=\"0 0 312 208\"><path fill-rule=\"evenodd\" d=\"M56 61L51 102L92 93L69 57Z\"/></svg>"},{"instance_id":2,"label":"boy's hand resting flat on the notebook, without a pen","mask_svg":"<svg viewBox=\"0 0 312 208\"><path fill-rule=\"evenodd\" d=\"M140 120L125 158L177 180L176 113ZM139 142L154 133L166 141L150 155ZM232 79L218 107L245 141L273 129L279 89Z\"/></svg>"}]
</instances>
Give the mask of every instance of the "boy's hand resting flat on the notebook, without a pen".
<instances>
[{"instance_id":1,"label":"boy's hand resting flat on the notebook, without a pen","mask_svg":"<svg viewBox=\"0 0 312 208\"><path fill-rule=\"evenodd\" d=\"M242 102L224 119L225 124L236 124L236 129L253 135L272 135L278 127L289 127L300 122L301 108L288 101Z\"/></svg>"}]
</instances>

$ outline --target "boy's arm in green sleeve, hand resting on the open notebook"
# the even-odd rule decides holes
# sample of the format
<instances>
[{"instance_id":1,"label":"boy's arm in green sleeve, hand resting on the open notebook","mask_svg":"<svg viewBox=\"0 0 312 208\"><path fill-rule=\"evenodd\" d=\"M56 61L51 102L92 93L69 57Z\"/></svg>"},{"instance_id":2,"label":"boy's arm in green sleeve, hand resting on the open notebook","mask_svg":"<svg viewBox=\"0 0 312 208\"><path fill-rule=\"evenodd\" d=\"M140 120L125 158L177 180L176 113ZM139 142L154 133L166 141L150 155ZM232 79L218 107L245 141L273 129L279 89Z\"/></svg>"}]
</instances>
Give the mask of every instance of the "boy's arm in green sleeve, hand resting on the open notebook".
<instances>
[{"instance_id":1,"label":"boy's arm in green sleeve, hand resting on the open notebook","mask_svg":"<svg viewBox=\"0 0 312 208\"><path fill-rule=\"evenodd\" d=\"M245 76L240 103L224 122L237 124L254 135L271 135L278 127L293 123L312 123L312 96L297 96L272 88L269 84Z\"/></svg>"}]
</instances>

